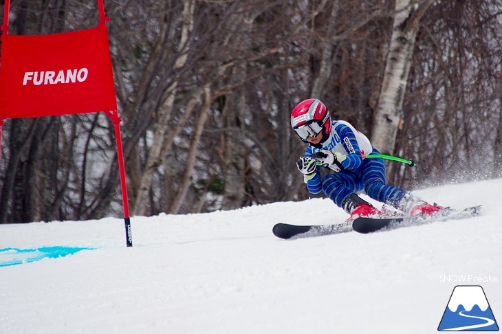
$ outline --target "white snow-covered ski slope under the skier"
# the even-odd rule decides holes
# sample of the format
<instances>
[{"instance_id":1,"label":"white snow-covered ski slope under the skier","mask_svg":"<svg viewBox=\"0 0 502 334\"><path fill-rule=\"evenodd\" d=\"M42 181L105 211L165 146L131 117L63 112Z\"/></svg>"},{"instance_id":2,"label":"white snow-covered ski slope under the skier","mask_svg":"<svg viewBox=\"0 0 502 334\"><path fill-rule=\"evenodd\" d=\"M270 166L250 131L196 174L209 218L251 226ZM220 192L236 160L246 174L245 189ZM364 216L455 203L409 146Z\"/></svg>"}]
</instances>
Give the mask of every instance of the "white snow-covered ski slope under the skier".
<instances>
[{"instance_id":1,"label":"white snow-covered ski slope under the skier","mask_svg":"<svg viewBox=\"0 0 502 334\"><path fill-rule=\"evenodd\" d=\"M0 333L437 333L456 285L481 285L501 321L501 188L416 192L483 204L472 219L290 241L272 226L347 214L311 199L135 216L132 248L122 219L0 225L0 249L95 248L0 267Z\"/></svg>"}]
</instances>

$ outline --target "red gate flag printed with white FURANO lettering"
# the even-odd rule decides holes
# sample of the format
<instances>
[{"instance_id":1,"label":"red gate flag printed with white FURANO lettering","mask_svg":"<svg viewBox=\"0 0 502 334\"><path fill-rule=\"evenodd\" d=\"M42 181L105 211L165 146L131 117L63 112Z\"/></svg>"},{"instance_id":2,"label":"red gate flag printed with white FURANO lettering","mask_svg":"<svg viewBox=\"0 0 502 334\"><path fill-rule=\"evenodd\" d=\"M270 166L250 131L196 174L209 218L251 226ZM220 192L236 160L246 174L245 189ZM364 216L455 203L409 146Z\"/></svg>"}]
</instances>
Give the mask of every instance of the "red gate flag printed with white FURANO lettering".
<instances>
[{"instance_id":1,"label":"red gate flag printed with white FURANO lettering","mask_svg":"<svg viewBox=\"0 0 502 334\"><path fill-rule=\"evenodd\" d=\"M0 120L116 111L107 27L3 34Z\"/></svg>"}]
</instances>

